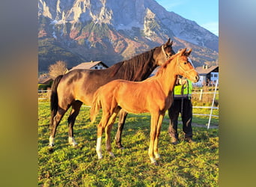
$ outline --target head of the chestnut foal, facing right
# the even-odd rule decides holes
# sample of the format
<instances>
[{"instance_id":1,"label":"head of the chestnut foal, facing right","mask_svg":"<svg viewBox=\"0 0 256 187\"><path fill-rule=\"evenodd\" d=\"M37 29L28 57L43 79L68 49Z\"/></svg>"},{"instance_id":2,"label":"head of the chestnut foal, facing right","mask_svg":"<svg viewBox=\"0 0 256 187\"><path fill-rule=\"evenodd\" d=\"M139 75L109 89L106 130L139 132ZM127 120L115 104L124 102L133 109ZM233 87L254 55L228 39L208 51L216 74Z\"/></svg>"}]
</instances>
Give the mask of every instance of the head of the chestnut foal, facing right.
<instances>
[{"instance_id":1,"label":"head of the chestnut foal, facing right","mask_svg":"<svg viewBox=\"0 0 256 187\"><path fill-rule=\"evenodd\" d=\"M186 52L185 48L177 53L176 71L178 75L184 76L195 83L199 81L199 76L195 70L195 67L192 64L192 61L189 59L189 55L191 52L192 49Z\"/></svg>"}]
</instances>

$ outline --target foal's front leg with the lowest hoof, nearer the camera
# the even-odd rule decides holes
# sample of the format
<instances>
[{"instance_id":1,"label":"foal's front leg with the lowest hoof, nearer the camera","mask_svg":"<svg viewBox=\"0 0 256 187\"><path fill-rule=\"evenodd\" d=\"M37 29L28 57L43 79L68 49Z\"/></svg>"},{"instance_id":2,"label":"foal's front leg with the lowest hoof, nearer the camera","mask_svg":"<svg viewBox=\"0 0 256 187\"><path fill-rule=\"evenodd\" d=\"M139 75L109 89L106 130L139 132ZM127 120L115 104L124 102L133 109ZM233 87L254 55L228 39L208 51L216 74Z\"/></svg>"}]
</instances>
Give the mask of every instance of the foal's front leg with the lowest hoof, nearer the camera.
<instances>
[{"instance_id":1,"label":"foal's front leg with the lowest hoof, nearer the camera","mask_svg":"<svg viewBox=\"0 0 256 187\"><path fill-rule=\"evenodd\" d=\"M159 114L151 114L150 122L150 147L148 150L148 155L150 156L150 161L152 164L157 165L156 160L153 158L153 147L156 139L157 123L159 120Z\"/></svg>"}]
</instances>

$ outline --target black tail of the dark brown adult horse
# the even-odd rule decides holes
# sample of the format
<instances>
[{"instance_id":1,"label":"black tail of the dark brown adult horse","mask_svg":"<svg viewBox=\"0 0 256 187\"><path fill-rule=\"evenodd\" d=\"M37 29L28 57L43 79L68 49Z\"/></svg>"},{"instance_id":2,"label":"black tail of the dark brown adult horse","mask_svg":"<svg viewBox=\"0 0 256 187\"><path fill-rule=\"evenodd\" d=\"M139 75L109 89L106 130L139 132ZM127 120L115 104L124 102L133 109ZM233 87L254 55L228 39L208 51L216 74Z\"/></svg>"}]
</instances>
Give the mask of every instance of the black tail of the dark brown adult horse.
<instances>
[{"instance_id":1,"label":"black tail of the dark brown adult horse","mask_svg":"<svg viewBox=\"0 0 256 187\"><path fill-rule=\"evenodd\" d=\"M52 82L52 93L51 93L51 122L53 122L53 117L57 114L58 111L58 83L61 81L63 75L57 76L55 80Z\"/></svg>"}]
</instances>

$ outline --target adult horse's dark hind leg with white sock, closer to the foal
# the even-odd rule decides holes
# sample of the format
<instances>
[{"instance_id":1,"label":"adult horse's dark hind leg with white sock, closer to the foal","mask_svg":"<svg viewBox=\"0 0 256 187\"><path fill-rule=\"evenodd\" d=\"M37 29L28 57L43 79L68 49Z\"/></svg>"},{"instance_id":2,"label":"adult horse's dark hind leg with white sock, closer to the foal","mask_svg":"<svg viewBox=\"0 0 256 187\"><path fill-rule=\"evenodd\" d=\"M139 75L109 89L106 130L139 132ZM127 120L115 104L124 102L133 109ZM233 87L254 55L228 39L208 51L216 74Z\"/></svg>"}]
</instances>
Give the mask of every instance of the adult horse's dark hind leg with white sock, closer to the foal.
<instances>
[{"instance_id":1,"label":"adult horse's dark hind leg with white sock, closer to the foal","mask_svg":"<svg viewBox=\"0 0 256 187\"><path fill-rule=\"evenodd\" d=\"M70 116L67 118L67 121L68 121L68 143L73 146L76 146L76 144L77 144L75 141L75 138L73 136L73 126L74 126L76 117L79 114L81 105L82 105L81 101L77 100L77 101L73 102Z\"/></svg>"}]
</instances>

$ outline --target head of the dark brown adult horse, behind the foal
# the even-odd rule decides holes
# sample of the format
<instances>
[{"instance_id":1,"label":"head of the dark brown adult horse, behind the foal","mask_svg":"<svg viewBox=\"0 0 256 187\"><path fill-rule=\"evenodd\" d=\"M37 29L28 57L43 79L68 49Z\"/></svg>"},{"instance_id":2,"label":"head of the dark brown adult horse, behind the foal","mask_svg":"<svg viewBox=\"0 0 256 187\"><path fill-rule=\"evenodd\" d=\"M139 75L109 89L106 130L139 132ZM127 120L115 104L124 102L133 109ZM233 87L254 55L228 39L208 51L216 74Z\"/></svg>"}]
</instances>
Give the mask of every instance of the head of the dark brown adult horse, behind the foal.
<instances>
[{"instance_id":1,"label":"head of the dark brown adult horse, behind the foal","mask_svg":"<svg viewBox=\"0 0 256 187\"><path fill-rule=\"evenodd\" d=\"M170 41L169 38L165 44L159 46L156 49L156 51L153 54L153 58L155 59L157 65L161 66L162 64L165 64L165 61L168 58L170 58L172 55L175 55L175 52L172 49L172 43L173 41Z\"/></svg>"}]
</instances>

